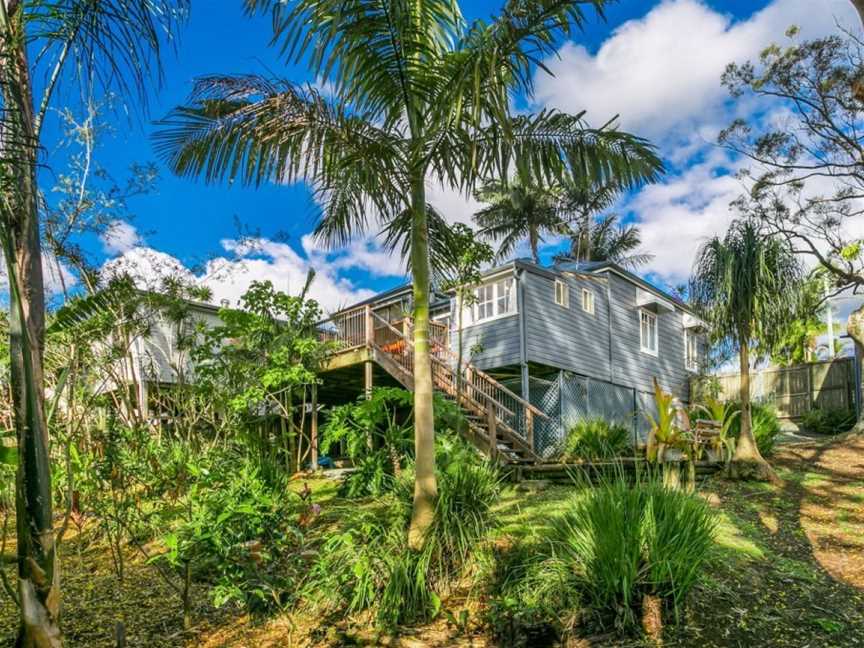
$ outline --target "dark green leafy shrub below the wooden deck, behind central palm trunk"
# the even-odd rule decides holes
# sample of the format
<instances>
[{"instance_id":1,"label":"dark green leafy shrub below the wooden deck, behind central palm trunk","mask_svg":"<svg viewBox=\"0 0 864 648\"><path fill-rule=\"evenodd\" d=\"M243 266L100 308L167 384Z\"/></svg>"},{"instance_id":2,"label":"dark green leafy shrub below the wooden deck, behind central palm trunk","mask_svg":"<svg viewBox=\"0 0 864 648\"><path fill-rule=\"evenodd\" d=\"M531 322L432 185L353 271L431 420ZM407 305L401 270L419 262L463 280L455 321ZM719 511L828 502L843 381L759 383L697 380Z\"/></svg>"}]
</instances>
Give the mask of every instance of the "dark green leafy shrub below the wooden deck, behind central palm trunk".
<instances>
[{"instance_id":1,"label":"dark green leafy shrub below the wooden deck, behind central palm trunk","mask_svg":"<svg viewBox=\"0 0 864 648\"><path fill-rule=\"evenodd\" d=\"M410 462L414 451L414 395L394 387L376 387L367 399L334 407L322 427L321 451L338 446L354 464L342 486L346 497L381 495ZM450 401L436 394L436 428L453 430L461 416Z\"/></svg>"}]
</instances>

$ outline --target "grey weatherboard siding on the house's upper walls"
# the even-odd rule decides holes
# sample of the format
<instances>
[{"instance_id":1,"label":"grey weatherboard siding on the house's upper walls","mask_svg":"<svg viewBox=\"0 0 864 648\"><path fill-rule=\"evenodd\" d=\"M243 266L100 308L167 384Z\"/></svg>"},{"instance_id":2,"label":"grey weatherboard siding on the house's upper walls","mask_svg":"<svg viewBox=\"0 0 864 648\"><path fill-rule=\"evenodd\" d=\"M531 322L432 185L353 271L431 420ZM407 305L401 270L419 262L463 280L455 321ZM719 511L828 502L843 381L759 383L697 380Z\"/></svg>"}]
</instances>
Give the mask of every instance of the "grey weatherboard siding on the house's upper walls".
<instances>
[{"instance_id":1,"label":"grey weatherboard siding on the house's upper walls","mask_svg":"<svg viewBox=\"0 0 864 648\"><path fill-rule=\"evenodd\" d=\"M556 279L569 287L569 308L555 303ZM685 311L679 305L675 304L672 312L657 313L658 354L654 356L640 349L638 287L633 281L611 270L574 274L523 266L517 272L517 282L517 314L464 329L465 357L472 346L482 347L472 358L477 367L488 370L522 362L522 320L527 363L641 392L653 389L656 376L664 389L685 401L689 399L691 373L685 367L682 319ZM582 310L583 288L594 295L593 314ZM455 303L453 314L455 351Z\"/></svg>"}]
</instances>

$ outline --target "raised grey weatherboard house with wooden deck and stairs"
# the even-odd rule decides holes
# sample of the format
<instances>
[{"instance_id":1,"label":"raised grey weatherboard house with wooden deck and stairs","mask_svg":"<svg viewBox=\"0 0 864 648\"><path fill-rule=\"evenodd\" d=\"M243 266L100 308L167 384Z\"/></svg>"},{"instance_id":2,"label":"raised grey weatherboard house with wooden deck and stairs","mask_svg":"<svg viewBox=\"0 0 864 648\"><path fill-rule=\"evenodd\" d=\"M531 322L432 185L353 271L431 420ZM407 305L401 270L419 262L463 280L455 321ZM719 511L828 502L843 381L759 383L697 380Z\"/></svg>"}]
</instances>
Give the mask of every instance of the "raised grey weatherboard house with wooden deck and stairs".
<instances>
[{"instance_id":1,"label":"raised grey weatherboard house with wooden deck and stairs","mask_svg":"<svg viewBox=\"0 0 864 648\"><path fill-rule=\"evenodd\" d=\"M377 384L413 387L409 285L322 324L338 343L319 390L340 402ZM647 434L653 380L682 402L705 352L704 324L680 300L614 263L515 260L483 275L471 303L433 293L435 388L454 398L456 357L470 435L490 454L538 461L566 429L602 416ZM461 326L460 326L461 323Z\"/></svg>"}]
</instances>

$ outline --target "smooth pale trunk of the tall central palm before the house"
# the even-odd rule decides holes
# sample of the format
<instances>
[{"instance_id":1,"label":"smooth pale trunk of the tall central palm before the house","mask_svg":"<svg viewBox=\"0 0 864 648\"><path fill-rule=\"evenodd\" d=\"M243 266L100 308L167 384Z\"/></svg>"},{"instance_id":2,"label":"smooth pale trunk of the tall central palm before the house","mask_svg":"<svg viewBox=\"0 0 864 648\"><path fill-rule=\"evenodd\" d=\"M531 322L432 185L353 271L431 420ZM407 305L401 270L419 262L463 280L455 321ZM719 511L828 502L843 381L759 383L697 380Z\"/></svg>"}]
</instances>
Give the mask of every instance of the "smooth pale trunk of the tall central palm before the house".
<instances>
[{"instance_id":1,"label":"smooth pale trunk of the tall central palm before the house","mask_svg":"<svg viewBox=\"0 0 864 648\"><path fill-rule=\"evenodd\" d=\"M432 410L432 360L429 355L429 225L424 176L411 186L411 268L414 282L414 508L408 544L418 550L432 525L438 485L435 480L435 417Z\"/></svg>"}]
</instances>

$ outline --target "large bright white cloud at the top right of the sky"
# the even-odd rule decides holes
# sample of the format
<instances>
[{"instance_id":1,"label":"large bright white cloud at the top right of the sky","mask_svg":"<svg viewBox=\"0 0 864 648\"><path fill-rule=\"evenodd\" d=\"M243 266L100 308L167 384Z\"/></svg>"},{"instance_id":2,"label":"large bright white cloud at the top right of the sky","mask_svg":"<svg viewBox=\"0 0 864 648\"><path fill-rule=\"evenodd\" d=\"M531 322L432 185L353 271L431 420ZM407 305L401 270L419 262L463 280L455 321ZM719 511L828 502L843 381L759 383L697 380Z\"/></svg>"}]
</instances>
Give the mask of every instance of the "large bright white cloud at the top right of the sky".
<instances>
[{"instance_id":1,"label":"large bright white cloud at the top right of the sky","mask_svg":"<svg viewBox=\"0 0 864 648\"><path fill-rule=\"evenodd\" d=\"M720 76L728 63L758 56L790 25L811 37L835 31L837 22L858 28L849 0L776 0L743 21L698 0L665 0L618 27L595 54L566 43L546 61L554 77L538 71L535 98L587 110L594 125L620 114L625 129L655 139L685 127L692 133L690 126L703 128L723 111Z\"/></svg>"}]
</instances>

